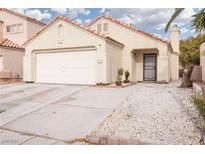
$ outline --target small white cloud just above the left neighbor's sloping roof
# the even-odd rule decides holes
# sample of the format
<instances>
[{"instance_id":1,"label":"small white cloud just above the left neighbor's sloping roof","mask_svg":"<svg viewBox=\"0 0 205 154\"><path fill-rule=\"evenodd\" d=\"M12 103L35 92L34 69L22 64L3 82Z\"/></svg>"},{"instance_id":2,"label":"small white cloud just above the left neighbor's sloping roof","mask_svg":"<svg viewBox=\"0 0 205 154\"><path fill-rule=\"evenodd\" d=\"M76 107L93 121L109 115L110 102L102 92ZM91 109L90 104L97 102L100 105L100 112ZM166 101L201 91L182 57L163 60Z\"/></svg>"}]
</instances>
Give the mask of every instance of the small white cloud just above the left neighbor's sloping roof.
<instances>
[{"instance_id":1,"label":"small white cloud just above the left neighbor's sloping roof","mask_svg":"<svg viewBox=\"0 0 205 154\"><path fill-rule=\"evenodd\" d=\"M37 20L50 19L51 18L51 14L48 13L47 10L45 10L44 12L41 12L38 9L26 10L25 15L27 15L31 18L35 18Z\"/></svg>"}]
</instances>

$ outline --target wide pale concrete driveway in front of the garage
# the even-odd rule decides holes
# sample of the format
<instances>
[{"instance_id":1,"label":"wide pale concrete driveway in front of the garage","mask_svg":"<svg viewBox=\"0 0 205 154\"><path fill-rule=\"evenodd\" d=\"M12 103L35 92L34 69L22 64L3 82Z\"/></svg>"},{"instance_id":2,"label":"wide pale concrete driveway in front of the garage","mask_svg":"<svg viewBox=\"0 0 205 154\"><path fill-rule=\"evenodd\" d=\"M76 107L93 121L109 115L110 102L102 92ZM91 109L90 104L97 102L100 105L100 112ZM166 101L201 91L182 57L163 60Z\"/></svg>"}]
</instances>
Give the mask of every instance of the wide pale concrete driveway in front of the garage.
<instances>
[{"instance_id":1,"label":"wide pale concrete driveway in front of the garage","mask_svg":"<svg viewBox=\"0 0 205 154\"><path fill-rule=\"evenodd\" d=\"M77 85L0 85L0 144L65 144L89 135L132 91Z\"/></svg>"}]
</instances>

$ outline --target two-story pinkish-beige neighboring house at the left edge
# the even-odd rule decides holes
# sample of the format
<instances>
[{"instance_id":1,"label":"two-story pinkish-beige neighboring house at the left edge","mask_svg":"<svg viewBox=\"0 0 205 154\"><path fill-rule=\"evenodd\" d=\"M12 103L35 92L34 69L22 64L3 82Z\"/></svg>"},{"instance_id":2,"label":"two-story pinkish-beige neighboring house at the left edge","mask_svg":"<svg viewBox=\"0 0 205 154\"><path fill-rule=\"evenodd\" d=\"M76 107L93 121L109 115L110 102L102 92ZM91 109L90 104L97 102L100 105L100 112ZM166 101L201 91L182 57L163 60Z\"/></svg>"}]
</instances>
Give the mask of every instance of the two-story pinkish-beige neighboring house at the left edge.
<instances>
[{"instance_id":1,"label":"two-story pinkish-beige neighboring house at the left edge","mask_svg":"<svg viewBox=\"0 0 205 154\"><path fill-rule=\"evenodd\" d=\"M0 8L0 78L22 78L22 44L45 26L23 14Z\"/></svg>"}]
</instances>

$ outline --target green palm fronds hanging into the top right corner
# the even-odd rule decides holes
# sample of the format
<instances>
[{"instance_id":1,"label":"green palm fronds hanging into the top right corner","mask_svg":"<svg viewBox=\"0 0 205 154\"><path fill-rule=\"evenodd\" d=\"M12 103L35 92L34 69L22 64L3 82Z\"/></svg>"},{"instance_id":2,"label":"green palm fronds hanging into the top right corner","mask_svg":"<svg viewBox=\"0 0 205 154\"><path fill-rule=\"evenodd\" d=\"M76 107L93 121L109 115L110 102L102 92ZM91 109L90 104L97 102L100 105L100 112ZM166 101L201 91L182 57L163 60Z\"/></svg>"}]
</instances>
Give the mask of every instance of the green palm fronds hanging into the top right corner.
<instances>
[{"instance_id":1,"label":"green palm fronds hanging into the top right corner","mask_svg":"<svg viewBox=\"0 0 205 154\"><path fill-rule=\"evenodd\" d=\"M184 8L176 8L174 14L166 25L165 32L168 31L173 21L184 11ZM201 9L194 14L192 20L192 29L195 29L196 33L202 33L205 31L205 9Z\"/></svg>"}]
</instances>

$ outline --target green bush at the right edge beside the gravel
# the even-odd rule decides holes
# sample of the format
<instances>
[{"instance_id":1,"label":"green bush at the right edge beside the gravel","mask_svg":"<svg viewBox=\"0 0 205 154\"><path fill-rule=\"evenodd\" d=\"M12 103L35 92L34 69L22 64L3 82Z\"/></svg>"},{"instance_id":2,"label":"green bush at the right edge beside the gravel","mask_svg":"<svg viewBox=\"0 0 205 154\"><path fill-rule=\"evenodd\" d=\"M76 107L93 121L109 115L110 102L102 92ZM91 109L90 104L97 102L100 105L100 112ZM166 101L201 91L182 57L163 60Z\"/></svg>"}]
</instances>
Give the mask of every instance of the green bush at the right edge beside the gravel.
<instances>
[{"instance_id":1,"label":"green bush at the right edge beside the gravel","mask_svg":"<svg viewBox=\"0 0 205 154\"><path fill-rule=\"evenodd\" d=\"M192 102L196 105L201 116L205 119L205 98L199 96L193 96Z\"/></svg>"}]
</instances>

